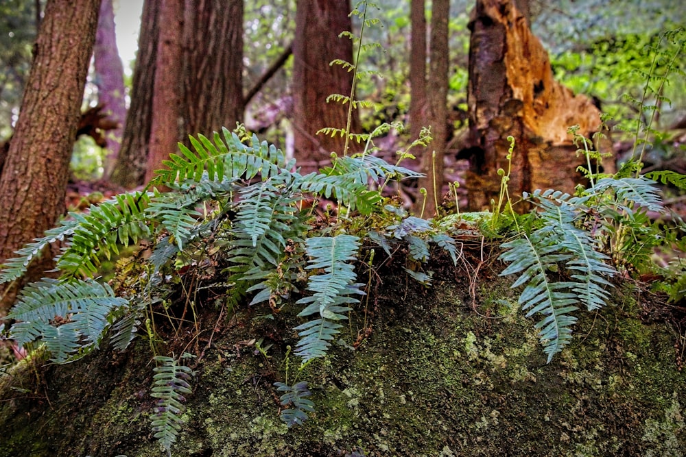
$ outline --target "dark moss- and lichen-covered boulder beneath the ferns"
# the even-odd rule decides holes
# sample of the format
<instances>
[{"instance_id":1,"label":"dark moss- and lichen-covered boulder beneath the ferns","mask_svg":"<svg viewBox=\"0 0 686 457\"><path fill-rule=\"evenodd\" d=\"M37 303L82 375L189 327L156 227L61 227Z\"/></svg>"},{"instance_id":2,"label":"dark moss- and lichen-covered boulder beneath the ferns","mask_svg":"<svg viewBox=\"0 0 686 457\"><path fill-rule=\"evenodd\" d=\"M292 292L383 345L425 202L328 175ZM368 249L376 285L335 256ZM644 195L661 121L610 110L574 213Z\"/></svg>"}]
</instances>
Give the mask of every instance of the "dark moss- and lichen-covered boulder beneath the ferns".
<instances>
[{"instance_id":1,"label":"dark moss- and lichen-covered boulder beneath the ferns","mask_svg":"<svg viewBox=\"0 0 686 457\"><path fill-rule=\"evenodd\" d=\"M438 267L426 287L391 271L374 281L329 356L302 371L287 349L298 341L294 306L278 314L208 306L197 328L162 330L176 337L177 355L198 356L171 455L686 452L678 336L641 319L653 305L639 304L636 291L618 286L612 306L580 313L573 343L547 364L532 321L496 273L472 282ZM265 353L259 338L272 345ZM61 366L34 356L13 369L0 381L0 457L165 455L150 430L150 347L139 338L123 354L103 348ZM289 429L273 384L296 379L309 382L316 412Z\"/></svg>"}]
</instances>

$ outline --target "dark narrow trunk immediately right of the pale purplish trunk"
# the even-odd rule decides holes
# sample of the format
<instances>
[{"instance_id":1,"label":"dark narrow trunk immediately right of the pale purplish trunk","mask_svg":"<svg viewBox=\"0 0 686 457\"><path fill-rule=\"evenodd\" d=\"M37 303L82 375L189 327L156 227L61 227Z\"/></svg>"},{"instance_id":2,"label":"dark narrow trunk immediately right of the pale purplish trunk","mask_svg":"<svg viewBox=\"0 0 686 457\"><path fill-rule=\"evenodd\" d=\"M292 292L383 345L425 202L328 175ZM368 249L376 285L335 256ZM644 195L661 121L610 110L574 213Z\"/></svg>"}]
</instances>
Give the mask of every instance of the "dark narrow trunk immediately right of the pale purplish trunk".
<instances>
[{"instance_id":1,"label":"dark narrow trunk immediately right of the pale purplish trunk","mask_svg":"<svg viewBox=\"0 0 686 457\"><path fill-rule=\"evenodd\" d=\"M145 0L141 14L141 33L133 73L131 104L124 124L121 149L110 181L126 188L143 184L152 125L152 92L159 34L161 2Z\"/></svg>"}]
</instances>

